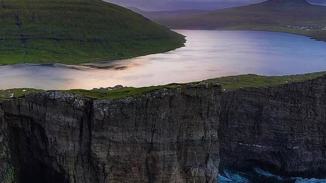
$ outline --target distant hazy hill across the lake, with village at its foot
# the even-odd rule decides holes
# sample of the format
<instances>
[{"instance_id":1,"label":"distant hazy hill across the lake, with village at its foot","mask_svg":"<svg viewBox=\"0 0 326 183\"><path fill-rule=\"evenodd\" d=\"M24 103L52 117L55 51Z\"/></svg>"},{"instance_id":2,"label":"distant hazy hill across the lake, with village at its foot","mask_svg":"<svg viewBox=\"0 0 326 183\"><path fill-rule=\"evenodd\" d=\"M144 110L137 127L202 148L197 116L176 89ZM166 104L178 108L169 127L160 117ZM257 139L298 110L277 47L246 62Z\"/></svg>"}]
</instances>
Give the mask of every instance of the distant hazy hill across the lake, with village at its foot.
<instances>
[{"instance_id":1,"label":"distant hazy hill across the lake, with village at its foot","mask_svg":"<svg viewBox=\"0 0 326 183\"><path fill-rule=\"evenodd\" d=\"M288 26L326 27L326 7L305 0L269 0L263 3L155 20L176 29L237 29L277 31L326 41L326 31Z\"/></svg>"}]
</instances>

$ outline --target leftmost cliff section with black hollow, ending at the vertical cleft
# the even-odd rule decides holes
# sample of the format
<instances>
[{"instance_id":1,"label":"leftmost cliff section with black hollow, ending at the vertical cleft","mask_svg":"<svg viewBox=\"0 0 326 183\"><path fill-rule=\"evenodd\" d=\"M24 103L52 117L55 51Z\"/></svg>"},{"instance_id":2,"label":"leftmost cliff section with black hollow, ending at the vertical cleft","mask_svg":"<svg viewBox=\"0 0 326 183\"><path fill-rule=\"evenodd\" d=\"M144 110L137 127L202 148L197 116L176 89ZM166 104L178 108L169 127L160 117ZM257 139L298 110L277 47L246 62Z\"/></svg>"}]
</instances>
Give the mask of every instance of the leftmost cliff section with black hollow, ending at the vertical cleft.
<instances>
[{"instance_id":1,"label":"leftmost cliff section with black hollow, ending at the vertical cleft","mask_svg":"<svg viewBox=\"0 0 326 183\"><path fill-rule=\"evenodd\" d=\"M2 101L18 182L90 179L91 101L60 93Z\"/></svg>"}]
</instances>

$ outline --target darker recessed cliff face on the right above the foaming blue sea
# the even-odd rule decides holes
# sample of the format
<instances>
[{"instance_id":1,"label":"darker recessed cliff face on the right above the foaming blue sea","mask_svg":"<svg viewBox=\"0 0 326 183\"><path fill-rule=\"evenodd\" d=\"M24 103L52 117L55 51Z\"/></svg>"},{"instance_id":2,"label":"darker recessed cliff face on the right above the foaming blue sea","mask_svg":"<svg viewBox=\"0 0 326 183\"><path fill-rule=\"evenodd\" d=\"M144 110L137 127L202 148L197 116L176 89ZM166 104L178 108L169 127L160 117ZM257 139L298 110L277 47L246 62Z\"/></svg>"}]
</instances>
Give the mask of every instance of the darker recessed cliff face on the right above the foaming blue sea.
<instances>
[{"instance_id":1,"label":"darker recessed cliff face on the right above the foaming blue sea","mask_svg":"<svg viewBox=\"0 0 326 183\"><path fill-rule=\"evenodd\" d=\"M221 167L252 161L271 171L326 176L326 77L223 93Z\"/></svg>"}]
</instances>

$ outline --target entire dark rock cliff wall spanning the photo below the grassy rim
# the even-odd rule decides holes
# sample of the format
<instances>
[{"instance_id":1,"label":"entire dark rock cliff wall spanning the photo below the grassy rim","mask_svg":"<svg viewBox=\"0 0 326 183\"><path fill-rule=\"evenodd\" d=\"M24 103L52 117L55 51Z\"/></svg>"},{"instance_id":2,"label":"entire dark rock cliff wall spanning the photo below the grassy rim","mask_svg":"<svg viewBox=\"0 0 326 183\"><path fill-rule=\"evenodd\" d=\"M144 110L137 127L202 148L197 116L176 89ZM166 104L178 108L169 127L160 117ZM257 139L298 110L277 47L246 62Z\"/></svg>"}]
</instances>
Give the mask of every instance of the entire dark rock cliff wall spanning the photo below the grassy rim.
<instances>
[{"instance_id":1,"label":"entire dark rock cliff wall spanning the photo below the grassy rim","mask_svg":"<svg viewBox=\"0 0 326 183\"><path fill-rule=\"evenodd\" d=\"M326 176L326 76L221 92L200 83L93 100L59 92L0 102L0 182L216 182L254 164Z\"/></svg>"}]
</instances>

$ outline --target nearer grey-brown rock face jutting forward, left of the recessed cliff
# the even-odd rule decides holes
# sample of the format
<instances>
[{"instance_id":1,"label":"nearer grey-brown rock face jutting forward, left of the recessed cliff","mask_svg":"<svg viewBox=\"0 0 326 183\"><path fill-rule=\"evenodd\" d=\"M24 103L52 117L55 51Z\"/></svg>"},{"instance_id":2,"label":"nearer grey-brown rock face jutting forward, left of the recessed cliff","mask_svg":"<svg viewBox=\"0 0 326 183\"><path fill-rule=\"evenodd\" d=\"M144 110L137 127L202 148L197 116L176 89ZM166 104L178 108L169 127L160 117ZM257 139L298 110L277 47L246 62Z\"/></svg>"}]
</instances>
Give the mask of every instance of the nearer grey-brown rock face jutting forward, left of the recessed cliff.
<instances>
[{"instance_id":1,"label":"nearer grey-brown rock face jutting forward, left of the recessed cliff","mask_svg":"<svg viewBox=\"0 0 326 183\"><path fill-rule=\"evenodd\" d=\"M0 103L0 133L18 182L216 182L220 97L216 84L121 100L33 94Z\"/></svg>"}]
</instances>

